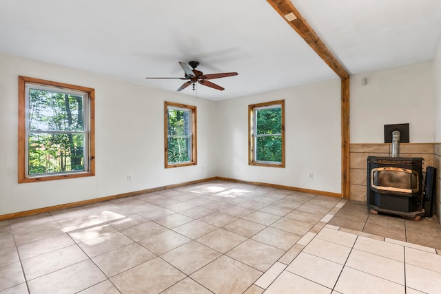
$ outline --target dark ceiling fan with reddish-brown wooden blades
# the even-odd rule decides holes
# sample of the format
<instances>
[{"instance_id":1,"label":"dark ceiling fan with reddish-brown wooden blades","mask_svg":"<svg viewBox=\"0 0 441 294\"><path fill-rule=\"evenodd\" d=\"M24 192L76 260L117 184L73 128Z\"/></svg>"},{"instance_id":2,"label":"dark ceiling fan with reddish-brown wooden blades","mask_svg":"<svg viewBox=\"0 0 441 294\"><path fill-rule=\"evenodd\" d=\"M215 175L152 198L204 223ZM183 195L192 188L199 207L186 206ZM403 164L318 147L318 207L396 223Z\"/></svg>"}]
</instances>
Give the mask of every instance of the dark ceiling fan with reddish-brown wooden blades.
<instances>
[{"instance_id":1,"label":"dark ceiling fan with reddish-brown wooden blades","mask_svg":"<svg viewBox=\"0 0 441 294\"><path fill-rule=\"evenodd\" d=\"M238 75L237 72L223 72L223 73L219 73L219 74L203 74L203 72L196 70L196 67L198 67L198 65L199 65L198 61L190 61L188 64L189 64L189 66L192 67L192 69L190 69L190 67L188 67L187 64L179 61L179 65L181 65L182 69L184 70L185 77L184 78L172 78L172 79L179 79L179 80L189 80L189 81L183 83L183 85L181 85L181 87L179 87L177 91L182 91L186 87L188 87L189 85L193 85L193 91L194 91L196 83L199 83L201 85L205 85L207 87L212 87L216 90L223 91L223 90L225 90L223 87L220 87L220 85L216 85L215 83L212 83L207 80L212 80L214 78L225 78L226 76L237 76Z\"/></svg>"}]
</instances>

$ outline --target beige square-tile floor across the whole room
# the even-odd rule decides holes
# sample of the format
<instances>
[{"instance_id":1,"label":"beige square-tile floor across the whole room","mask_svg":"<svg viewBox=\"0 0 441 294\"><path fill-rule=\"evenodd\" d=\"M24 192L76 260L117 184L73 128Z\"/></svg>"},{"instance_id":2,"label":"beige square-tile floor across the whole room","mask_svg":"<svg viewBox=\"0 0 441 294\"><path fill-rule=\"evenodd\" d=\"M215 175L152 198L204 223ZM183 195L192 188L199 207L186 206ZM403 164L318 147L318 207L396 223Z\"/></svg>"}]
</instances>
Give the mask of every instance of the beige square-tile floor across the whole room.
<instances>
[{"instance_id":1,"label":"beige square-tile floor across the whole room","mask_svg":"<svg viewBox=\"0 0 441 294\"><path fill-rule=\"evenodd\" d=\"M0 293L441 293L441 228L224 181L0 221Z\"/></svg>"}]
</instances>

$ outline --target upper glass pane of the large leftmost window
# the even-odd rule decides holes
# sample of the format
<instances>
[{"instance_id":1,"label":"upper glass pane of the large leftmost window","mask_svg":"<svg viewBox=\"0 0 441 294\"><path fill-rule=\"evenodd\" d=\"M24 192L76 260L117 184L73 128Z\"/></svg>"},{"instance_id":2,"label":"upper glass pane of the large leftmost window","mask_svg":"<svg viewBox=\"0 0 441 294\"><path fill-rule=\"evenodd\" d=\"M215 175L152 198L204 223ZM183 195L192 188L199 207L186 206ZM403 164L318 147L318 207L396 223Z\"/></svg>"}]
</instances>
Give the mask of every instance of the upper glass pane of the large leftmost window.
<instances>
[{"instance_id":1,"label":"upper glass pane of the large leftmost window","mask_svg":"<svg viewBox=\"0 0 441 294\"><path fill-rule=\"evenodd\" d=\"M29 129L83 131L83 97L29 89Z\"/></svg>"}]
</instances>

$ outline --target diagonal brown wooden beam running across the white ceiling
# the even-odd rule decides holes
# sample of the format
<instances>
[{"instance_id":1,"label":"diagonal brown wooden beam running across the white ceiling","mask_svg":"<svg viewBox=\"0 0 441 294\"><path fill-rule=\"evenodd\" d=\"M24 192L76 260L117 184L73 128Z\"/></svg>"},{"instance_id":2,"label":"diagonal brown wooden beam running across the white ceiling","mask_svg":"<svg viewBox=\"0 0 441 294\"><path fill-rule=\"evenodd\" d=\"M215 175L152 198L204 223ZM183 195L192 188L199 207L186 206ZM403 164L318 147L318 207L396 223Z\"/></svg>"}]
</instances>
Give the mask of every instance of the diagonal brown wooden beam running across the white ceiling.
<instances>
[{"instance_id":1,"label":"diagonal brown wooden beam running across the white ceiling","mask_svg":"<svg viewBox=\"0 0 441 294\"><path fill-rule=\"evenodd\" d=\"M267 0L267 2L280 14L283 19L293 28L308 45L320 56L331 70L340 78L349 78L345 70L334 55L328 50L325 43L309 26L309 23L302 17L302 14L294 7L290 0Z\"/></svg>"}]
</instances>

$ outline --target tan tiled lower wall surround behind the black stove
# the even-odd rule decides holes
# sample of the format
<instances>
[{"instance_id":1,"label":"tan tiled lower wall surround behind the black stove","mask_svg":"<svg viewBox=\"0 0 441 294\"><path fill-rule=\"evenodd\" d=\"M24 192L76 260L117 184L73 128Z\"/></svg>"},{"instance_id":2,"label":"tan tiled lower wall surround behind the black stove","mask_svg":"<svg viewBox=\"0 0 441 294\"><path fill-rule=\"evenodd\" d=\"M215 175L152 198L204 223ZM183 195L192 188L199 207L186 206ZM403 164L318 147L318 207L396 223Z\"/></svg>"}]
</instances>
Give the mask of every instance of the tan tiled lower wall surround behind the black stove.
<instances>
[{"instance_id":1,"label":"tan tiled lower wall surround behind the black stove","mask_svg":"<svg viewBox=\"0 0 441 294\"><path fill-rule=\"evenodd\" d=\"M435 144L435 149L438 148L437 165L441 167L441 143ZM365 201L367 193L367 156L391 156L392 144L351 144L350 146L350 198L351 200ZM436 167L434 157L433 143L401 143L400 144L400 157L422 157L424 162L422 163L422 170L424 173L426 167ZM438 171L441 169L438 168ZM437 204L438 211L440 210L440 176L438 173L438 185L437 185ZM437 211L437 216L440 213Z\"/></svg>"}]
</instances>

